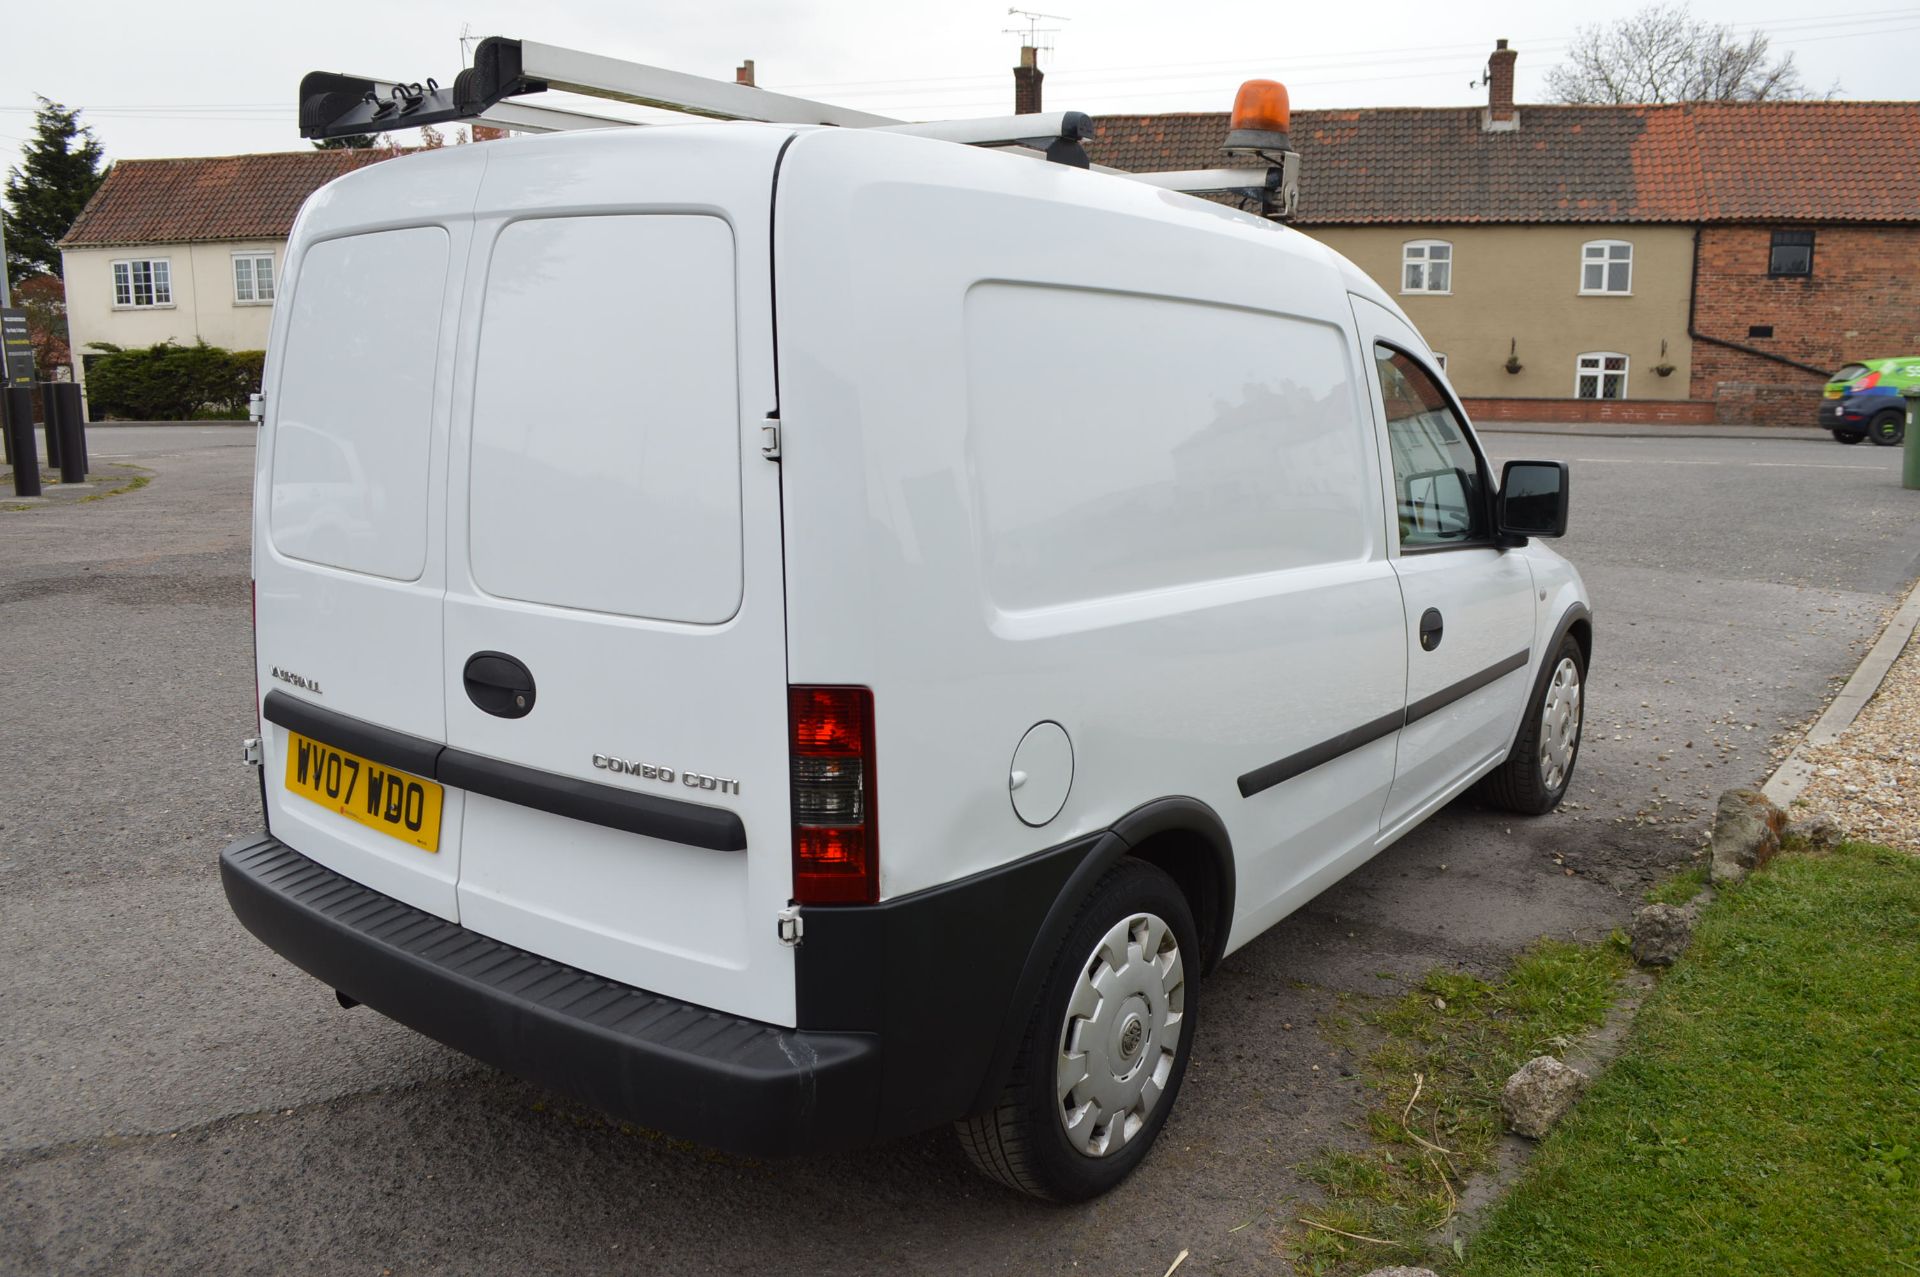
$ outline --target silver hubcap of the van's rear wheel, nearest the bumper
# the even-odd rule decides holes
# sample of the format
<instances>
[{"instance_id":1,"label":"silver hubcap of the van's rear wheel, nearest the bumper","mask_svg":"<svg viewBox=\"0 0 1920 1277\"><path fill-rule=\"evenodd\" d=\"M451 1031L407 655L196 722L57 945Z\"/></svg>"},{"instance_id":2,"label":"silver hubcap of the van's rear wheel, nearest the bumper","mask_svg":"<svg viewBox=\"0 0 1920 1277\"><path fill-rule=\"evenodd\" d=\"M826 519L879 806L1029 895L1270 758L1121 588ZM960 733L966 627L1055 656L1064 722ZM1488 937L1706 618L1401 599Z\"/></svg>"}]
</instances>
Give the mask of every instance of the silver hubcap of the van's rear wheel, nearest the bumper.
<instances>
[{"instance_id":1,"label":"silver hubcap of the van's rear wheel, nearest the bumper","mask_svg":"<svg viewBox=\"0 0 1920 1277\"><path fill-rule=\"evenodd\" d=\"M1165 1095L1187 1010L1187 968L1156 914L1116 922L1081 962L1054 1068L1060 1129L1077 1152L1119 1152Z\"/></svg>"}]
</instances>

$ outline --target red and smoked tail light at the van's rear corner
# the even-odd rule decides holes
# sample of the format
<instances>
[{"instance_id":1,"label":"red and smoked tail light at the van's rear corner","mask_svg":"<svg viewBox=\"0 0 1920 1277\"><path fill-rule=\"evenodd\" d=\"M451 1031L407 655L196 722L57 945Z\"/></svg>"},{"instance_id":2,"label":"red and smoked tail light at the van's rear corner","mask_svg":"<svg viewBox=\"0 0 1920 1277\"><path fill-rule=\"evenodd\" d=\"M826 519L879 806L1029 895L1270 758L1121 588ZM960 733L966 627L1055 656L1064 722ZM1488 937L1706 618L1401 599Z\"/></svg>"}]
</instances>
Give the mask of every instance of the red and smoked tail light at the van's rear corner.
<instances>
[{"instance_id":1,"label":"red and smoked tail light at the van's rear corner","mask_svg":"<svg viewBox=\"0 0 1920 1277\"><path fill-rule=\"evenodd\" d=\"M879 899L874 818L874 693L789 687L793 776L793 899L872 904Z\"/></svg>"}]
</instances>

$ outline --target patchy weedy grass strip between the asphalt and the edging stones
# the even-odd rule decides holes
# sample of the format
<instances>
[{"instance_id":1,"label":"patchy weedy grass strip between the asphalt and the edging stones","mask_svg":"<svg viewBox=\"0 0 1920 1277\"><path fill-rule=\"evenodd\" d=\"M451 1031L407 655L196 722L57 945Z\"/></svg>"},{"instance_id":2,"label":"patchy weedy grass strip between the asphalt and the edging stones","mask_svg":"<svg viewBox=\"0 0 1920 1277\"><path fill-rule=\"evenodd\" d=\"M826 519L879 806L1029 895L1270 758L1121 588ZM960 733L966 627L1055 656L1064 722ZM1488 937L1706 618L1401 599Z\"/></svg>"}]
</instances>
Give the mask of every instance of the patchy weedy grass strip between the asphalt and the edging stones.
<instances>
[{"instance_id":1,"label":"patchy weedy grass strip between the asphalt and the edging stones","mask_svg":"<svg viewBox=\"0 0 1920 1277\"><path fill-rule=\"evenodd\" d=\"M1288 1233L1304 1273L1430 1262L1428 1233L1500 1139L1500 1089L1536 1054L1592 1029L1620 993L1622 937L1540 941L1498 979L1436 970L1411 993L1325 1025L1375 1091L1367 1146L1325 1152L1302 1173L1325 1200Z\"/></svg>"}]
</instances>

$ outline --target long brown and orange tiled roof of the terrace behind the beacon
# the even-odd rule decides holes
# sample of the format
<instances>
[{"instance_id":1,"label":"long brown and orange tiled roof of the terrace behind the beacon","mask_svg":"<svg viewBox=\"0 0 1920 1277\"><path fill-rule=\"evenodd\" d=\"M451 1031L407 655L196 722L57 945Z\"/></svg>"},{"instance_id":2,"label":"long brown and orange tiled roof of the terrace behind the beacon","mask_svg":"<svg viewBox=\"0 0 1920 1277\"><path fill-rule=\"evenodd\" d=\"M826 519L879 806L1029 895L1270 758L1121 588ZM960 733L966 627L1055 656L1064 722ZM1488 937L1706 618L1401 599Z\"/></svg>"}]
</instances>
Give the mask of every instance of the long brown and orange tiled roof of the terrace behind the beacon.
<instances>
[{"instance_id":1,"label":"long brown and orange tiled roof of the terrace behind the beacon","mask_svg":"<svg viewBox=\"0 0 1920 1277\"><path fill-rule=\"evenodd\" d=\"M1580 221L1920 223L1920 102L1294 111L1304 225ZM1246 165L1225 113L1100 115L1116 169ZM1258 165L1258 161L1254 161ZM1254 167L1254 165L1248 165Z\"/></svg>"}]
</instances>

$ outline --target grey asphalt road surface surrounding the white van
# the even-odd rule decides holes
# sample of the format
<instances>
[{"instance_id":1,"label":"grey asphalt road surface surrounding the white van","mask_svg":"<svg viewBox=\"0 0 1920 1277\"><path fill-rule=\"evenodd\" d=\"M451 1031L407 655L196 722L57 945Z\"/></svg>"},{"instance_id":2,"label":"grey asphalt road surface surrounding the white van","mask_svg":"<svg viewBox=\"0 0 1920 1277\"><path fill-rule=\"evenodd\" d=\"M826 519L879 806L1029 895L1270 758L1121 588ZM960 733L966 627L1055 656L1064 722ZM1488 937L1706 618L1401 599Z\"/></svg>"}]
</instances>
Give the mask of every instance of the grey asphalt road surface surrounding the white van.
<instances>
[{"instance_id":1,"label":"grey asphalt road surface surrounding the white van","mask_svg":"<svg viewBox=\"0 0 1920 1277\"><path fill-rule=\"evenodd\" d=\"M1596 937L1759 782L1920 570L1895 449L1494 434L1565 457L1596 597L1569 808L1457 803L1227 960L1133 1181L1044 1208L945 1131L758 1164L622 1131L332 993L228 914L257 822L252 430L100 430L152 486L0 513L0 1271L1284 1271L1363 1098L1340 995Z\"/></svg>"}]
</instances>

